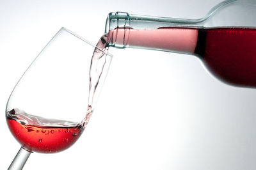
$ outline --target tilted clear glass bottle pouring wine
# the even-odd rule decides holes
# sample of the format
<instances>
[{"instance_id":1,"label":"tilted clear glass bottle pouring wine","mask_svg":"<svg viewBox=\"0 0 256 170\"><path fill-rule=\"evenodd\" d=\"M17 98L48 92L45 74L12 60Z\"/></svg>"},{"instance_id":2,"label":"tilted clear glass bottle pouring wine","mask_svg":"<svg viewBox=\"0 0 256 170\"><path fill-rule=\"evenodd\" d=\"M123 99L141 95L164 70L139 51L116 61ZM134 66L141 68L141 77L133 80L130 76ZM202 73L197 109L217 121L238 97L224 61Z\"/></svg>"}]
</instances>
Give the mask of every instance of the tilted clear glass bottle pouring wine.
<instances>
[{"instance_id":1,"label":"tilted clear glass bottle pouring wine","mask_svg":"<svg viewBox=\"0 0 256 170\"><path fill-rule=\"evenodd\" d=\"M256 87L256 2L228 0L202 19L109 13L109 47L191 54L233 86Z\"/></svg>"}]
</instances>

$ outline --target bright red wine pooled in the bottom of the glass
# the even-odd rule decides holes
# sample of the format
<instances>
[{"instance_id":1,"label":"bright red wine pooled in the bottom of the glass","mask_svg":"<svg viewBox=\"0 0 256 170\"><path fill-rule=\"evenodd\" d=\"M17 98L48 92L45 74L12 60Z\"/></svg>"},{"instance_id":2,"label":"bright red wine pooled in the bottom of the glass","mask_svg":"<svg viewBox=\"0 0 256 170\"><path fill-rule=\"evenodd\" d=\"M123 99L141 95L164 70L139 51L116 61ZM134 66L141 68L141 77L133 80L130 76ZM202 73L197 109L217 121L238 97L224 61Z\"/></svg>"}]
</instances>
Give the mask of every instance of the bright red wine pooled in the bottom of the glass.
<instances>
[{"instance_id":1,"label":"bright red wine pooled in the bottom of the glass","mask_svg":"<svg viewBox=\"0 0 256 170\"><path fill-rule=\"evenodd\" d=\"M7 123L13 136L24 148L40 153L55 153L74 144L83 132L80 123L49 120L19 109L7 112Z\"/></svg>"}]
</instances>

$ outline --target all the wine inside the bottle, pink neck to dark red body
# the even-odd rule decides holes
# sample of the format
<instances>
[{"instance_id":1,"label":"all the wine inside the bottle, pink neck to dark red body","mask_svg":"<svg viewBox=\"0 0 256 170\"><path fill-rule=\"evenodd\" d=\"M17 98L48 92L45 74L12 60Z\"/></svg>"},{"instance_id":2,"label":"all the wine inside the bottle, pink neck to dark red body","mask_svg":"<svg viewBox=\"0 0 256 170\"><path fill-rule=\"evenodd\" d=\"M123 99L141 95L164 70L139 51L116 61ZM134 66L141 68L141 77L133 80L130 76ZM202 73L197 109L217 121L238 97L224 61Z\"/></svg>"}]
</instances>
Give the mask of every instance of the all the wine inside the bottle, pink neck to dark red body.
<instances>
[{"instance_id":1,"label":"all the wine inside the bottle, pink neck to dark red body","mask_svg":"<svg viewBox=\"0 0 256 170\"><path fill-rule=\"evenodd\" d=\"M118 28L108 35L108 43L112 44L194 54L221 81L256 87L256 29Z\"/></svg>"}]
</instances>

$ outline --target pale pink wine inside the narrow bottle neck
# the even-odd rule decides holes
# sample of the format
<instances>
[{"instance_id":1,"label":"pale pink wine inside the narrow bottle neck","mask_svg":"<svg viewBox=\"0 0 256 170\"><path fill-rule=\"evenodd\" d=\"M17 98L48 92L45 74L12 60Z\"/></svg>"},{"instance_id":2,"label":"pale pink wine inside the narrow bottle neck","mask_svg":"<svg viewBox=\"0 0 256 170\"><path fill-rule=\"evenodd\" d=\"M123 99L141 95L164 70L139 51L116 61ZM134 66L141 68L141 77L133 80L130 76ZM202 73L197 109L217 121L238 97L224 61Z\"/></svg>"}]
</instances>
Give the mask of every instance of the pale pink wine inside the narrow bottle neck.
<instances>
[{"instance_id":1,"label":"pale pink wine inside the narrow bottle neck","mask_svg":"<svg viewBox=\"0 0 256 170\"><path fill-rule=\"evenodd\" d=\"M160 27L158 29L118 28L109 31L108 37L108 43L127 47L194 52L198 30L177 27Z\"/></svg>"}]
</instances>

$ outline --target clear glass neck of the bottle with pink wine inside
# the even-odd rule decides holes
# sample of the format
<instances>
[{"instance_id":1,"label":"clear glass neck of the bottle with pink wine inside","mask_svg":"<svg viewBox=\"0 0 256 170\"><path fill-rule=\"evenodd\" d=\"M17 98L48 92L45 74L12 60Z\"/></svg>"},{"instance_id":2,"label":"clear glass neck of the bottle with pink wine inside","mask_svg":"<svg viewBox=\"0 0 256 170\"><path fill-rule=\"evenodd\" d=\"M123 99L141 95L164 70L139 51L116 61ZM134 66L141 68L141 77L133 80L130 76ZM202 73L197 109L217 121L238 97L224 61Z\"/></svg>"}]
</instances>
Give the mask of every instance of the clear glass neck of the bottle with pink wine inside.
<instances>
[{"instance_id":1,"label":"clear glass neck of the bottle with pink wine inside","mask_svg":"<svg viewBox=\"0 0 256 170\"><path fill-rule=\"evenodd\" d=\"M134 47L191 54L196 48L196 23L199 22L202 20L116 12L109 13L105 33L108 35L109 47Z\"/></svg>"}]
</instances>

